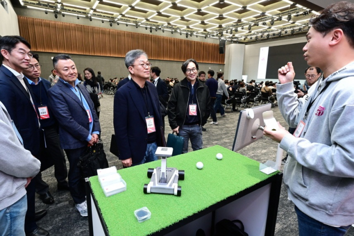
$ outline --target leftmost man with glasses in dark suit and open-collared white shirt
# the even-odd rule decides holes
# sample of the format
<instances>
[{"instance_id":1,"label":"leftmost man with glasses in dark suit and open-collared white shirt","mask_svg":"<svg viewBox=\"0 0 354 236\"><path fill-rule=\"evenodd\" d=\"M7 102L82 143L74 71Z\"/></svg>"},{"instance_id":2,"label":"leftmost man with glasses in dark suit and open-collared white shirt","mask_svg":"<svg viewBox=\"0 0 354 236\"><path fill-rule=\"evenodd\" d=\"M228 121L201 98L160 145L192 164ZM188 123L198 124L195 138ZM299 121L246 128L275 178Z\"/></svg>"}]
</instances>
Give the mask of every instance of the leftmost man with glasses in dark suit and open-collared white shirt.
<instances>
[{"instance_id":1,"label":"leftmost man with glasses in dark suit and open-collared white shirt","mask_svg":"<svg viewBox=\"0 0 354 236\"><path fill-rule=\"evenodd\" d=\"M32 58L30 44L21 36L0 37L0 50L3 65L0 67L0 101L5 105L23 140L23 146L35 157L39 156L39 115L34 105L34 95L22 70L26 69ZM30 181L30 179L28 179ZM3 189L7 191L8 189ZM1 191L1 190L0 190ZM49 235L38 227L35 213L35 182L26 187L27 213L25 232L29 235ZM24 209L25 210L25 209ZM38 217L43 217L40 212Z\"/></svg>"}]
</instances>

